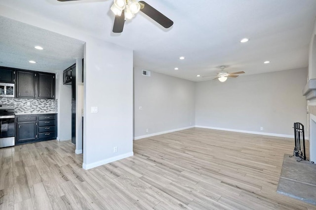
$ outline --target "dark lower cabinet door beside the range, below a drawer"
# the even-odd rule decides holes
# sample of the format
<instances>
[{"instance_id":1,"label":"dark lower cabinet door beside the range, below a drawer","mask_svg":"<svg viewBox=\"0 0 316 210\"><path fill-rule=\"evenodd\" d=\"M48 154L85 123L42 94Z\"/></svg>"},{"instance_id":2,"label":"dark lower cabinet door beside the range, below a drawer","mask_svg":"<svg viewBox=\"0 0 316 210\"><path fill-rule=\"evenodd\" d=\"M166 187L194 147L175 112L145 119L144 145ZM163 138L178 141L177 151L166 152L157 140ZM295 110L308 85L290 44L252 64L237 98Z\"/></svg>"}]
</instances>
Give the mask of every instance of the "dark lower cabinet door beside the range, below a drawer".
<instances>
[{"instance_id":1,"label":"dark lower cabinet door beside the range, below a drawer","mask_svg":"<svg viewBox=\"0 0 316 210\"><path fill-rule=\"evenodd\" d=\"M36 140L36 122L17 123L17 142Z\"/></svg>"}]
</instances>

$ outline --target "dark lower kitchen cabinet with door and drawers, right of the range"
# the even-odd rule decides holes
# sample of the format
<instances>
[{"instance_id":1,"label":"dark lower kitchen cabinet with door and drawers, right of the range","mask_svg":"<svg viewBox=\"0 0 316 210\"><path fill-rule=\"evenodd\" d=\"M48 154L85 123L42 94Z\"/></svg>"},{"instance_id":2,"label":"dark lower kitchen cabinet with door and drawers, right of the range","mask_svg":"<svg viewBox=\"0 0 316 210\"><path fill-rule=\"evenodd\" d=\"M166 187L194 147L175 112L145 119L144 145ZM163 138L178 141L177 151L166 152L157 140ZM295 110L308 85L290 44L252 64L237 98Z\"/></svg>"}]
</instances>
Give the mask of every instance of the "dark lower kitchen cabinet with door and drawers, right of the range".
<instances>
[{"instance_id":1,"label":"dark lower kitchen cabinet with door and drawers, right of the range","mask_svg":"<svg viewBox=\"0 0 316 210\"><path fill-rule=\"evenodd\" d=\"M16 116L16 145L57 137L57 114Z\"/></svg>"}]
</instances>

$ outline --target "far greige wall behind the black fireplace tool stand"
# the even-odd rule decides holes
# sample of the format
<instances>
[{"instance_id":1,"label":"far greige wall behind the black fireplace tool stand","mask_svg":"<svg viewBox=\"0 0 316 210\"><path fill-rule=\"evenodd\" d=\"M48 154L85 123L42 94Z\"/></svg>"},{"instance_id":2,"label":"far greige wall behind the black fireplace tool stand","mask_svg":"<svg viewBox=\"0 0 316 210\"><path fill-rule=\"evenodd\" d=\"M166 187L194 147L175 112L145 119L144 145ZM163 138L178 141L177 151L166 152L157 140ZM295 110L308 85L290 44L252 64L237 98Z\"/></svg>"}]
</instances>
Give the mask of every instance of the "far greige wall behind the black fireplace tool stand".
<instances>
[{"instance_id":1,"label":"far greige wall behind the black fireplace tool stand","mask_svg":"<svg viewBox=\"0 0 316 210\"><path fill-rule=\"evenodd\" d=\"M242 75L196 86L197 126L291 137L293 123L307 124L302 90L307 68ZM263 127L264 130L260 130Z\"/></svg>"}]
</instances>

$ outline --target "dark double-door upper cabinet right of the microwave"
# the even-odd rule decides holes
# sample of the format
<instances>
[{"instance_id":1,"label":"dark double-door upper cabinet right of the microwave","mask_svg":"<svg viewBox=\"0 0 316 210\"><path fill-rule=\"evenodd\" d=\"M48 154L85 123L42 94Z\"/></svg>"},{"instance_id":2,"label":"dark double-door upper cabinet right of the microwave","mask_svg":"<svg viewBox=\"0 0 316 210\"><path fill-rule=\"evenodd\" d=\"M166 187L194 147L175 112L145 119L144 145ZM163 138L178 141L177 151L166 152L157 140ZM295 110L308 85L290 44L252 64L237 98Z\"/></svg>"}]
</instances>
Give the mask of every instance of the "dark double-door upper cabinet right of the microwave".
<instances>
[{"instance_id":1,"label":"dark double-door upper cabinet right of the microwave","mask_svg":"<svg viewBox=\"0 0 316 210\"><path fill-rule=\"evenodd\" d=\"M17 98L55 98L55 74L17 71Z\"/></svg>"}]
</instances>

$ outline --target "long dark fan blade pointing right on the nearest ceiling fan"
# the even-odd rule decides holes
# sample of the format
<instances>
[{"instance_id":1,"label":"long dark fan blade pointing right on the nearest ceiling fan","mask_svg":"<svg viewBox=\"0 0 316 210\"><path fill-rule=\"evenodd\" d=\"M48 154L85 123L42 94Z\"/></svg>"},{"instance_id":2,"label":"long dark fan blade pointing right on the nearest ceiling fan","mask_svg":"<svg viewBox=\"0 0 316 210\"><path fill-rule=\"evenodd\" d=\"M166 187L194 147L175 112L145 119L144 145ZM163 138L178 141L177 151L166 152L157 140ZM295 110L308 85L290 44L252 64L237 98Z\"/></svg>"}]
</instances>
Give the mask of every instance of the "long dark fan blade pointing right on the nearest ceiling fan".
<instances>
[{"instance_id":1,"label":"long dark fan blade pointing right on the nearest ceiling fan","mask_svg":"<svg viewBox=\"0 0 316 210\"><path fill-rule=\"evenodd\" d=\"M145 1L139 1L140 4L143 4L140 11L145 13L148 17L152 18L158 24L168 29L173 25L173 21L161 14L157 9L146 3Z\"/></svg>"}]
</instances>

